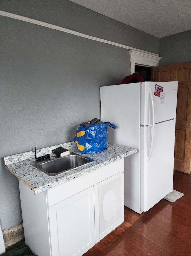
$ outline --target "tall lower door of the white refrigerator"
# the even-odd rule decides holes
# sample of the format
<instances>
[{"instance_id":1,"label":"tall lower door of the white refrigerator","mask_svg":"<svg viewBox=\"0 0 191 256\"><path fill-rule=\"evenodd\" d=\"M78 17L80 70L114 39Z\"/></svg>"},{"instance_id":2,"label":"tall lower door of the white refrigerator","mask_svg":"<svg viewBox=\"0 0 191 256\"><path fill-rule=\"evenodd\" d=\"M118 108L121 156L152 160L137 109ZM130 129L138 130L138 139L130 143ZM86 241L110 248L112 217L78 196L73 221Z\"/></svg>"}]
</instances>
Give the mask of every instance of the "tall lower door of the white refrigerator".
<instances>
[{"instance_id":1,"label":"tall lower door of the white refrigerator","mask_svg":"<svg viewBox=\"0 0 191 256\"><path fill-rule=\"evenodd\" d=\"M154 126L153 150L148 160L152 127L141 127L141 210L148 211L173 189L175 119Z\"/></svg>"}]
</instances>

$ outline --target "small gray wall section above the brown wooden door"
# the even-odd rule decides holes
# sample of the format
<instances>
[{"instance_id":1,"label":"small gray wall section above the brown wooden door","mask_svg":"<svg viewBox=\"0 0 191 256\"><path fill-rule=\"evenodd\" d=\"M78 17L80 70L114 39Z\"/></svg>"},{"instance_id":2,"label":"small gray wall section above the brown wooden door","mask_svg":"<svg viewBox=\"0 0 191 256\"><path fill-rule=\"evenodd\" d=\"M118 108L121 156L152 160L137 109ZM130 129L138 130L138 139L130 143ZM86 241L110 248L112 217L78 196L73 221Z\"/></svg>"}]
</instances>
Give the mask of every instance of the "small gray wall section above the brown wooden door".
<instances>
[{"instance_id":1,"label":"small gray wall section above the brown wooden door","mask_svg":"<svg viewBox=\"0 0 191 256\"><path fill-rule=\"evenodd\" d=\"M160 38L160 66L191 61L191 30Z\"/></svg>"}]
</instances>

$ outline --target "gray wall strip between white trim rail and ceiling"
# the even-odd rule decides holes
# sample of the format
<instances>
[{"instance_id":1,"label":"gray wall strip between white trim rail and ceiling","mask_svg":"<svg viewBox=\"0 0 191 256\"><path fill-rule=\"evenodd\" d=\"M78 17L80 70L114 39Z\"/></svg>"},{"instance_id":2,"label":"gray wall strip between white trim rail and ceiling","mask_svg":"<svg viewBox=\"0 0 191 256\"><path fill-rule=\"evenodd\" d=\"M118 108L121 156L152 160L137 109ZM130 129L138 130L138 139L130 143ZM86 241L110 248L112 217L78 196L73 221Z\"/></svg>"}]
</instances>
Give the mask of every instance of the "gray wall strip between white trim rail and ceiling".
<instances>
[{"instance_id":1,"label":"gray wall strip between white trim rail and ceiling","mask_svg":"<svg viewBox=\"0 0 191 256\"><path fill-rule=\"evenodd\" d=\"M0 10L159 54L159 38L67 0L1 0Z\"/></svg>"}]
</instances>

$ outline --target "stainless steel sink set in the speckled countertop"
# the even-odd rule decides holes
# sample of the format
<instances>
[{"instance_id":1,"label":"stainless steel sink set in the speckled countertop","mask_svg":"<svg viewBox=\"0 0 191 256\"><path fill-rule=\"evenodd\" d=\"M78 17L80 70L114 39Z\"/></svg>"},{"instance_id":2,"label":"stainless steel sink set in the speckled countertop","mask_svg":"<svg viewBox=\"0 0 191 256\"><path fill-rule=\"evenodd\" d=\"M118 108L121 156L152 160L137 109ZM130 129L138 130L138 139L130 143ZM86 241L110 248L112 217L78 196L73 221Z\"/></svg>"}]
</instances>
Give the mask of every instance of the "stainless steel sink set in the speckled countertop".
<instances>
[{"instance_id":1,"label":"stainless steel sink set in the speckled countertop","mask_svg":"<svg viewBox=\"0 0 191 256\"><path fill-rule=\"evenodd\" d=\"M51 157L50 160L30 162L30 165L38 168L49 176L55 176L65 171L72 170L78 166L93 162L94 160L85 156L71 153L68 156Z\"/></svg>"}]
</instances>

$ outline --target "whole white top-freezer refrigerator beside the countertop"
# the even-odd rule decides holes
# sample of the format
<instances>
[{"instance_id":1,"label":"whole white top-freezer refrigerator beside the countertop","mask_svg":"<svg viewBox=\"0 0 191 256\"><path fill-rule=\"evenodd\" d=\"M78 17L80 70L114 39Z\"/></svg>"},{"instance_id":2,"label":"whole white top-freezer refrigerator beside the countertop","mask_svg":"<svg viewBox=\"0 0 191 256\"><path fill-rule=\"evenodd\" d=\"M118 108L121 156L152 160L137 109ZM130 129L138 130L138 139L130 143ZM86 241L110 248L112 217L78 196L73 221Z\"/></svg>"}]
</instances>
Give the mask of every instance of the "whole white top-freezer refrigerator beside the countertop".
<instances>
[{"instance_id":1,"label":"whole white top-freezer refrigerator beside the countertop","mask_svg":"<svg viewBox=\"0 0 191 256\"><path fill-rule=\"evenodd\" d=\"M137 213L173 189L177 89L177 81L100 87L101 119L117 125L108 142L137 149L124 172L124 203Z\"/></svg>"}]
</instances>

